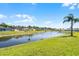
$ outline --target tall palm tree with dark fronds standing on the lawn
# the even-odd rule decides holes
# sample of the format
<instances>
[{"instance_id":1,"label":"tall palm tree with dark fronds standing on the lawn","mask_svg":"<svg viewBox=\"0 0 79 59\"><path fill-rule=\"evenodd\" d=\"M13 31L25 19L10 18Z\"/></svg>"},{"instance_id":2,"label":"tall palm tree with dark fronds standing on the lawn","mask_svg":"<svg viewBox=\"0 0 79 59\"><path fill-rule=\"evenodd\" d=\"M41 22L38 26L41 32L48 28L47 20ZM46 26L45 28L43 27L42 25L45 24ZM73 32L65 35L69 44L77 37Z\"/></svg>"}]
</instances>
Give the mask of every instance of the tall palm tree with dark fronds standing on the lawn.
<instances>
[{"instance_id":1,"label":"tall palm tree with dark fronds standing on the lawn","mask_svg":"<svg viewBox=\"0 0 79 59\"><path fill-rule=\"evenodd\" d=\"M64 17L64 22L70 22L71 23L71 36L73 36L73 24L76 22L79 22L79 18L74 18L73 14L69 14L68 16Z\"/></svg>"}]
</instances>

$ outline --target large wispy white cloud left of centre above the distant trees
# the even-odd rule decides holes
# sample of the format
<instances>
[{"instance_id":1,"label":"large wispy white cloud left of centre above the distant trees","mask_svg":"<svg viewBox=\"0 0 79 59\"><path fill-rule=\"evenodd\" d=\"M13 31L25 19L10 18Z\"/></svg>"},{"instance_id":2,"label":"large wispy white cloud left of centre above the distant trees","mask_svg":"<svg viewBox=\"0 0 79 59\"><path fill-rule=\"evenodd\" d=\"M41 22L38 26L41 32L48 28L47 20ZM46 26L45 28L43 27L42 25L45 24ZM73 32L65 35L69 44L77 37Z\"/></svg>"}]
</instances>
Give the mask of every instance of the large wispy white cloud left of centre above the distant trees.
<instances>
[{"instance_id":1,"label":"large wispy white cloud left of centre above the distant trees","mask_svg":"<svg viewBox=\"0 0 79 59\"><path fill-rule=\"evenodd\" d=\"M29 14L15 14L11 15L10 19L13 19L14 21L12 22L13 24L16 25L23 25L23 26L28 26L28 25L36 25L36 17L29 15Z\"/></svg>"}]
</instances>

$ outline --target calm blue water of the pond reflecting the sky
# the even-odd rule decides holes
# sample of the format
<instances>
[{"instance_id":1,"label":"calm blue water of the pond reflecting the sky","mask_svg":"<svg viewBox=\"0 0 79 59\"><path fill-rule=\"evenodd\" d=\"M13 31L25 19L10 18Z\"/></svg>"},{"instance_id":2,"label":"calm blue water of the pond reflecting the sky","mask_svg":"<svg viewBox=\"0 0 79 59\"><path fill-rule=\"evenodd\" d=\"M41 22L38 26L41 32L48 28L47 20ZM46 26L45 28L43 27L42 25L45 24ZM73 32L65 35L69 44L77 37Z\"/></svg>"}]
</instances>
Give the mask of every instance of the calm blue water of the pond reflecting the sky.
<instances>
[{"instance_id":1,"label":"calm blue water of the pond reflecting the sky","mask_svg":"<svg viewBox=\"0 0 79 59\"><path fill-rule=\"evenodd\" d=\"M30 36L13 36L13 37L0 38L0 48L27 43L30 41L41 40L41 39L49 38L49 37L55 37L59 35L62 35L62 33L43 32L43 33L38 33L38 34L30 35Z\"/></svg>"}]
</instances>

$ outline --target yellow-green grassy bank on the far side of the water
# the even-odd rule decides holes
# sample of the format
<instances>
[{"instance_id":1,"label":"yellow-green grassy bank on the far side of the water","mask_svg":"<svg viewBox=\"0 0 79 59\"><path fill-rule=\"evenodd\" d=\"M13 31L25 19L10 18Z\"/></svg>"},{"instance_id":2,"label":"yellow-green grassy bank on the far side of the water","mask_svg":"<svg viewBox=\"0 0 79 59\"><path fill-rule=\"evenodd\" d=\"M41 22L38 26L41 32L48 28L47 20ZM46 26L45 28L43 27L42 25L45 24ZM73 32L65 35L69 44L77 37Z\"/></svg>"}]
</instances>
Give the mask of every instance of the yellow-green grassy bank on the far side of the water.
<instances>
[{"instance_id":1,"label":"yellow-green grassy bank on the far side of the water","mask_svg":"<svg viewBox=\"0 0 79 59\"><path fill-rule=\"evenodd\" d=\"M16 36L16 35L32 35L40 32L44 32L44 31L0 31L0 38L6 36Z\"/></svg>"}]
</instances>

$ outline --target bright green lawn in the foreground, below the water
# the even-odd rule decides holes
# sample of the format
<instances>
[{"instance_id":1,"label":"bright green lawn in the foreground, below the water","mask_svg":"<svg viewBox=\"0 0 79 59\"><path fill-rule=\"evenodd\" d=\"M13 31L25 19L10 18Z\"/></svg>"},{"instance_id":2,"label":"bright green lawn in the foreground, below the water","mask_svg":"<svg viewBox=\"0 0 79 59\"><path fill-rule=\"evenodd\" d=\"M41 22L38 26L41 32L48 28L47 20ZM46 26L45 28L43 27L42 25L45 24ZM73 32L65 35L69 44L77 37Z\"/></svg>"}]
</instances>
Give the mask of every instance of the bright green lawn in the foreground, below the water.
<instances>
[{"instance_id":1,"label":"bright green lawn in the foreground, below the water","mask_svg":"<svg viewBox=\"0 0 79 59\"><path fill-rule=\"evenodd\" d=\"M79 33L0 48L5 56L79 56Z\"/></svg>"}]
</instances>

